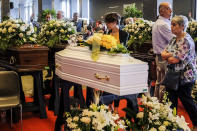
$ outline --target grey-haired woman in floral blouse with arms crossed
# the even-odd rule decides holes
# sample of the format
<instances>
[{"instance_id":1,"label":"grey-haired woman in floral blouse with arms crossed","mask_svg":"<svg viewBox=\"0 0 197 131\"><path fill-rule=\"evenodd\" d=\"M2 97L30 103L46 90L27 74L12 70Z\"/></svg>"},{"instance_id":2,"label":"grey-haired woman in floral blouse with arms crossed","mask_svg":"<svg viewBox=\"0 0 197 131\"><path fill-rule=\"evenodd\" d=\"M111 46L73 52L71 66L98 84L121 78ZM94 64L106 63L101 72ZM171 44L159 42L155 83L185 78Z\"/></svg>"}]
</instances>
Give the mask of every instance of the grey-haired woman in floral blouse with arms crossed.
<instances>
[{"instance_id":1,"label":"grey-haired woman in floral blouse with arms crossed","mask_svg":"<svg viewBox=\"0 0 197 131\"><path fill-rule=\"evenodd\" d=\"M182 71L181 83L177 91L166 87L168 97L172 102L172 108L177 108L178 98L185 107L197 131L197 105L191 97L192 88L197 76L196 54L194 41L186 33L188 19L185 16L175 16L171 21L171 31L175 35L167 45L161 56L168 62L167 68Z\"/></svg>"}]
</instances>

